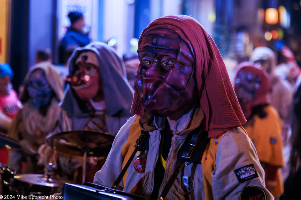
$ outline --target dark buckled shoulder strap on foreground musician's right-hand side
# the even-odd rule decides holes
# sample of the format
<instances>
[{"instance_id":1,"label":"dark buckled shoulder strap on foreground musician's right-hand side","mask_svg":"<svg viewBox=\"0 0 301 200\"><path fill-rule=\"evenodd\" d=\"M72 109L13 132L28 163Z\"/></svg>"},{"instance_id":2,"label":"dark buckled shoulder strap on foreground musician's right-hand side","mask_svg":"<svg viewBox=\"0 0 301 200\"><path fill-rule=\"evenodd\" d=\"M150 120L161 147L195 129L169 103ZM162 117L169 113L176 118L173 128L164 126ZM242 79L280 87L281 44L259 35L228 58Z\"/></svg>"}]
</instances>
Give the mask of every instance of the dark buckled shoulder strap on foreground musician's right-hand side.
<instances>
[{"instance_id":1,"label":"dark buckled shoulder strap on foreground musician's right-hand side","mask_svg":"<svg viewBox=\"0 0 301 200\"><path fill-rule=\"evenodd\" d=\"M163 188L163 190L161 192L161 195L159 196L159 199L164 199L167 196L167 193L169 192L170 188L172 187L173 183L175 182L175 179L177 178L178 174L181 172L185 162L191 157L192 152L194 151L194 147L197 145L197 142L200 140L202 135L203 134L201 134L200 128L189 133L184 144L182 145L182 148L179 151L178 155L180 157L178 157L178 164L175 168L175 171L173 172L171 177L168 179L165 187ZM186 143L186 145L185 145L185 143Z\"/></svg>"}]
</instances>

